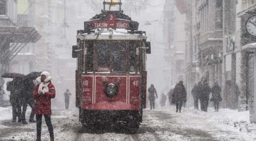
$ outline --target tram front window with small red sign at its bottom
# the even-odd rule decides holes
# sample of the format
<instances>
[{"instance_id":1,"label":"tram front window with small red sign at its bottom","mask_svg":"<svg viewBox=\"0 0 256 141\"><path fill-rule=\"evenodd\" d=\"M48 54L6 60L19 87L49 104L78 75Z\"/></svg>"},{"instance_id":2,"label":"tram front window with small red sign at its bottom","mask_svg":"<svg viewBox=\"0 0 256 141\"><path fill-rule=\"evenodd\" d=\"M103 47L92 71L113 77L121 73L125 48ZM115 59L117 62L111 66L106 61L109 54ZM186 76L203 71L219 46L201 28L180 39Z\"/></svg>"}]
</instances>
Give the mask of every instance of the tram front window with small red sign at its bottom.
<instances>
[{"instance_id":1,"label":"tram front window with small red sign at its bottom","mask_svg":"<svg viewBox=\"0 0 256 141\"><path fill-rule=\"evenodd\" d=\"M98 43L98 71L110 71L110 43Z\"/></svg>"}]
</instances>

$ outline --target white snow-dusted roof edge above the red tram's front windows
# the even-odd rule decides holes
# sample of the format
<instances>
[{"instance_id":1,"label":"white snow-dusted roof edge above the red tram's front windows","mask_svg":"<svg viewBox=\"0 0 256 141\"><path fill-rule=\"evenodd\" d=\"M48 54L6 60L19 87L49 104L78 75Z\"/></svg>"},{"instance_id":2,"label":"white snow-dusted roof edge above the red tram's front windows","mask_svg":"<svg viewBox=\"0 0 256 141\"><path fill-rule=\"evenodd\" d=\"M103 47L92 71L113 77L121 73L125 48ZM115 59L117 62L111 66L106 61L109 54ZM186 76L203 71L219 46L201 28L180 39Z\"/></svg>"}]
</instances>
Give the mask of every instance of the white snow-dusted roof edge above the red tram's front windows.
<instances>
[{"instance_id":1,"label":"white snow-dusted roof edge above the red tram's front windows","mask_svg":"<svg viewBox=\"0 0 256 141\"><path fill-rule=\"evenodd\" d=\"M99 34L98 34L99 33ZM109 35L112 35L110 38ZM141 34L131 34L128 33L126 29L113 29L113 33L108 31L108 29L95 29L95 33L83 33L78 34L76 38L80 40L143 40L147 39L145 33Z\"/></svg>"}]
</instances>

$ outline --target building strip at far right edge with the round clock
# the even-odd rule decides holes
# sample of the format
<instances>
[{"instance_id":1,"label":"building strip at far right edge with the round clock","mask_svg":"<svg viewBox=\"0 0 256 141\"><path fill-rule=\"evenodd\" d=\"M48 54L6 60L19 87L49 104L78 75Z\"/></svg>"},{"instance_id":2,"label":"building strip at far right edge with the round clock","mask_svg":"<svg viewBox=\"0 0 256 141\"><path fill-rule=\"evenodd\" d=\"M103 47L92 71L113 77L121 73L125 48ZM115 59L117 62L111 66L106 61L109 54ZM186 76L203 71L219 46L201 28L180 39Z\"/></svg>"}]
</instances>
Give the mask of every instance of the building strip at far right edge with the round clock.
<instances>
[{"instance_id":1,"label":"building strip at far right edge with the round clock","mask_svg":"<svg viewBox=\"0 0 256 141\"><path fill-rule=\"evenodd\" d=\"M237 12L241 18L241 94L245 99L241 104L250 110L250 121L256 122L256 0L242 0L241 11Z\"/></svg>"}]
</instances>

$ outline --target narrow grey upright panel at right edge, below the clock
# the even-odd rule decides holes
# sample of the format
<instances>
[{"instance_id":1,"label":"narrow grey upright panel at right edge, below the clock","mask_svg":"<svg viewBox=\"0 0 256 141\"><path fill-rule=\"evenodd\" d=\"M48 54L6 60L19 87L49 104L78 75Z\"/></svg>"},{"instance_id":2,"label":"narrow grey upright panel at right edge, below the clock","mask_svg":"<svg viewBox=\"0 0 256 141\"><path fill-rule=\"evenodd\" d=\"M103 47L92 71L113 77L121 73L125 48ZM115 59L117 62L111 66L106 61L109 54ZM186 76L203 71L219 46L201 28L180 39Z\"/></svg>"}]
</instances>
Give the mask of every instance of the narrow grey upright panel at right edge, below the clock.
<instances>
[{"instance_id":1,"label":"narrow grey upright panel at right edge, below the clock","mask_svg":"<svg viewBox=\"0 0 256 141\"><path fill-rule=\"evenodd\" d=\"M248 68L248 106L250 110L250 122L256 123L256 54L252 54L249 56L249 68Z\"/></svg>"}]
</instances>

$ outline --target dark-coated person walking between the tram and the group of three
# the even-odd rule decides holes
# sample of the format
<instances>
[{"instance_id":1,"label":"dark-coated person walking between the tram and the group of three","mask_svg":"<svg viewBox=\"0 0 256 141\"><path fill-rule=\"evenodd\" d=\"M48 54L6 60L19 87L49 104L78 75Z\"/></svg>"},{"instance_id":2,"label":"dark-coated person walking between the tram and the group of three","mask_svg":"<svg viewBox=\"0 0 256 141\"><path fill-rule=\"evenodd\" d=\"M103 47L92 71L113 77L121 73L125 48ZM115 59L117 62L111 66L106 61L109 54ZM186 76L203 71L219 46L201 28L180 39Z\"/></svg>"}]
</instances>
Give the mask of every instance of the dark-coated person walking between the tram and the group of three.
<instances>
[{"instance_id":1,"label":"dark-coated person walking between the tram and the group of three","mask_svg":"<svg viewBox=\"0 0 256 141\"><path fill-rule=\"evenodd\" d=\"M183 81L179 81L179 83L175 85L173 98L176 101L176 112L178 112L178 110L181 112L182 105L187 101L187 92L183 85Z\"/></svg>"}]
</instances>

